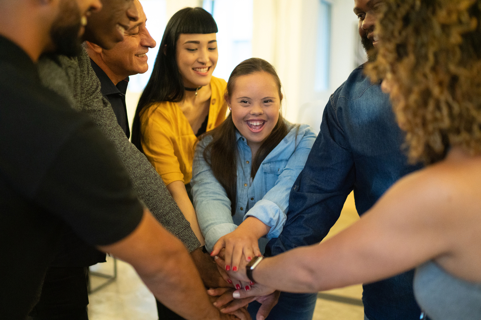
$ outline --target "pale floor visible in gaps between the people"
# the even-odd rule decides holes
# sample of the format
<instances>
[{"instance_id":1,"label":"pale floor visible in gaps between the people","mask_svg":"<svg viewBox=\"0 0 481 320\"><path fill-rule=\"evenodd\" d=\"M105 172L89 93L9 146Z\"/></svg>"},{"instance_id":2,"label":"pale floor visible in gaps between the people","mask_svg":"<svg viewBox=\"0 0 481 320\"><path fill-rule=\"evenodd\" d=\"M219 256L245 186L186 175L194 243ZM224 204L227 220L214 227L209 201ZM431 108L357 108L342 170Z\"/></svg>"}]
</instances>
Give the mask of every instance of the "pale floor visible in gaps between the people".
<instances>
[{"instance_id":1,"label":"pale floor visible in gaps between the people","mask_svg":"<svg viewBox=\"0 0 481 320\"><path fill-rule=\"evenodd\" d=\"M354 207L351 193L344 204L341 217L331 228L326 238L332 237L359 217ZM117 280L89 296L90 320L157 320L155 299L147 287L140 281L130 265L118 261ZM113 273L113 260L95 265L92 270ZM91 277L95 288L105 279ZM319 293L313 320L363 320L364 311L360 302L361 285Z\"/></svg>"}]
</instances>

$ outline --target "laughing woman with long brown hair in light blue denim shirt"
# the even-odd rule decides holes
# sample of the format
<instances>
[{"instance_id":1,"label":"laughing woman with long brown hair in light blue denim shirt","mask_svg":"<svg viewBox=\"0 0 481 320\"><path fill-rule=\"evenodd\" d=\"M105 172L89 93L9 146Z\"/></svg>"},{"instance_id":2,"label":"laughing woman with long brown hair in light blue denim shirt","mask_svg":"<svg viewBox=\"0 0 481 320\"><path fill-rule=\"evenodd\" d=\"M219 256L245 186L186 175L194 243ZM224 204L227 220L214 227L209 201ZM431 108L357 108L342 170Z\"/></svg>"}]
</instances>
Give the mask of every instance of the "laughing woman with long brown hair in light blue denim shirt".
<instances>
[{"instance_id":1,"label":"laughing woman with long brown hair in light blue denim shirt","mask_svg":"<svg viewBox=\"0 0 481 320\"><path fill-rule=\"evenodd\" d=\"M234 68L226 101L228 118L199 137L191 185L206 249L216 255L225 248L226 270L237 271L282 231L289 193L316 134L282 118L281 83L266 60L251 58ZM271 319L312 319L315 303L315 295L282 293ZM253 319L259 308L249 303Z\"/></svg>"}]
</instances>

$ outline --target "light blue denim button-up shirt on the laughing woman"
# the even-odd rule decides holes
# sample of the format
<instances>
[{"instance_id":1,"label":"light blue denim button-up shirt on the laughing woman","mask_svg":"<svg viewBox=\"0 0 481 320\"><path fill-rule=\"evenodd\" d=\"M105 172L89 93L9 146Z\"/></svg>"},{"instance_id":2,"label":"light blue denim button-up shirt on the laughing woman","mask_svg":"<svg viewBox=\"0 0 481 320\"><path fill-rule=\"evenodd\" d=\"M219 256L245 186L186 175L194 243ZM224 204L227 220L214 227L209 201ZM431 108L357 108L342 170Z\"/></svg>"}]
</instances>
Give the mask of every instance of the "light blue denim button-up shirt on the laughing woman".
<instances>
[{"instance_id":1,"label":"light blue denim button-up shirt on the laughing woman","mask_svg":"<svg viewBox=\"0 0 481 320\"><path fill-rule=\"evenodd\" d=\"M236 137L239 158L234 216L226 191L203 158L203 150L212 141L211 136L198 143L194 155L190 185L197 220L209 252L220 237L234 231L248 216L254 216L270 227L267 239L279 236L286 221L292 185L304 168L316 140L316 134L308 125L294 126L266 156L251 181L251 148L238 131ZM259 242L262 252L267 243L264 240Z\"/></svg>"}]
</instances>

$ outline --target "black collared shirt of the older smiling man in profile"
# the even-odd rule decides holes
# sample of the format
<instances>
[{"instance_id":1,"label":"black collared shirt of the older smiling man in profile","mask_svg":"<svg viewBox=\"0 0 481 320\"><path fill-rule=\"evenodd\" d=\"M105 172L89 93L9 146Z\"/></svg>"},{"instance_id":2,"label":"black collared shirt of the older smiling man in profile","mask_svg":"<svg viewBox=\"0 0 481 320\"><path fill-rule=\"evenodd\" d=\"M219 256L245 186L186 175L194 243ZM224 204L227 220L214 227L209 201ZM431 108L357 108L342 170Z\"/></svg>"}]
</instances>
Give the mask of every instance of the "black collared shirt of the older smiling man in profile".
<instances>
[{"instance_id":1,"label":"black collared shirt of the older smiling man in profile","mask_svg":"<svg viewBox=\"0 0 481 320\"><path fill-rule=\"evenodd\" d=\"M115 85L107 74L90 59L93 71L100 80L102 95L109 100L114 109L115 117L119 126L124 130L127 138L130 138L130 129L128 128L127 105L125 103L125 94L127 92L128 77Z\"/></svg>"}]
</instances>

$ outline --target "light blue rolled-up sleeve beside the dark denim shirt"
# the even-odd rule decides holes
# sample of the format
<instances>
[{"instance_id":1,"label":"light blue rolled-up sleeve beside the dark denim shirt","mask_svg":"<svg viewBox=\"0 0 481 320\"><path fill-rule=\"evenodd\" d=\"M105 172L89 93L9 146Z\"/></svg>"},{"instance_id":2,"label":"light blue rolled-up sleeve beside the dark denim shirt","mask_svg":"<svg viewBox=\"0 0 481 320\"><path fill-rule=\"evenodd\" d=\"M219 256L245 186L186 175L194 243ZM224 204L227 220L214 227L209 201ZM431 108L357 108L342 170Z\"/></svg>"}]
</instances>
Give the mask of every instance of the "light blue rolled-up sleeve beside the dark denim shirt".
<instances>
[{"instance_id":1,"label":"light blue rolled-up sleeve beside the dark denim shirt","mask_svg":"<svg viewBox=\"0 0 481 320\"><path fill-rule=\"evenodd\" d=\"M297 139L301 138L300 136ZM286 222L286 213L289 209L289 193L291 188L307 160L312 145L316 140L316 133L306 128L299 140L294 152L289 157L286 166L279 175L275 186L267 191L266 195L255 203L246 213L248 216L256 217L270 227L266 237L268 239L279 237Z\"/></svg>"}]
</instances>

